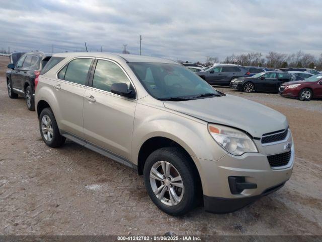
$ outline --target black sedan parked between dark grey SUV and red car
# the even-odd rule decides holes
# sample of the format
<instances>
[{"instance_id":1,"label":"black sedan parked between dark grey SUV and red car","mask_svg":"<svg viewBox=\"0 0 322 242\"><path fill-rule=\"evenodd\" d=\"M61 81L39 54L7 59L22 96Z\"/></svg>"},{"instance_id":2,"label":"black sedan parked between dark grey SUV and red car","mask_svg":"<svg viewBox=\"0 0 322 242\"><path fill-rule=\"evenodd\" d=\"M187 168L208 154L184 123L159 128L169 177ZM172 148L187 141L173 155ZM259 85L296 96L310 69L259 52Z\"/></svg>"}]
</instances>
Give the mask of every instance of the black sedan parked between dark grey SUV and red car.
<instances>
[{"instance_id":1,"label":"black sedan parked between dark grey SUV and red car","mask_svg":"<svg viewBox=\"0 0 322 242\"><path fill-rule=\"evenodd\" d=\"M230 87L244 92L278 92L282 83L295 79L293 74L287 72L262 72L252 77L233 79Z\"/></svg>"}]
</instances>

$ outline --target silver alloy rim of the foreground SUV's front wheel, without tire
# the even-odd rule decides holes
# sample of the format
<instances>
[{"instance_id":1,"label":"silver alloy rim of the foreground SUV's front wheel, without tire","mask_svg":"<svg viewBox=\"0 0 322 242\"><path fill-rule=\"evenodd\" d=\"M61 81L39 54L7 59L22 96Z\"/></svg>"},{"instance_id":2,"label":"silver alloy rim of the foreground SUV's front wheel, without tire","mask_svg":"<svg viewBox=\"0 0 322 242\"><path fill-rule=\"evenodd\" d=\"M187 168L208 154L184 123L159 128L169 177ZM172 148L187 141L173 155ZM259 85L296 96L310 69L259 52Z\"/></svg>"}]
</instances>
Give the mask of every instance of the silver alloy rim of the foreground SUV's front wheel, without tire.
<instances>
[{"instance_id":1,"label":"silver alloy rim of the foreground SUV's front wheel, without tire","mask_svg":"<svg viewBox=\"0 0 322 242\"><path fill-rule=\"evenodd\" d=\"M150 185L156 198L165 205L177 205L183 198L184 184L181 175L167 161L157 161L151 167Z\"/></svg>"}]
</instances>

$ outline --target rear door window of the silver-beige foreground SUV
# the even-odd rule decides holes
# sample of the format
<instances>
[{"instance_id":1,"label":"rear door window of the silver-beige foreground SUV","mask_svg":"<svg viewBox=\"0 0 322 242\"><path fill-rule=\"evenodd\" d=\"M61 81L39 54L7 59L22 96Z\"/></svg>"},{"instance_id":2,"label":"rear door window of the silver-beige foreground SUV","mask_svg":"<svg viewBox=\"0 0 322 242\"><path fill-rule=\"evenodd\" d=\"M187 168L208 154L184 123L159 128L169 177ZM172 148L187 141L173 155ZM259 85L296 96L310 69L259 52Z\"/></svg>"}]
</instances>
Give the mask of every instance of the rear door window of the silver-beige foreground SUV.
<instances>
[{"instance_id":1,"label":"rear door window of the silver-beige foreground SUV","mask_svg":"<svg viewBox=\"0 0 322 242\"><path fill-rule=\"evenodd\" d=\"M58 78L68 82L86 85L92 61L93 59L91 58L73 59L58 73Z\"/></svg>"}]
</instances>

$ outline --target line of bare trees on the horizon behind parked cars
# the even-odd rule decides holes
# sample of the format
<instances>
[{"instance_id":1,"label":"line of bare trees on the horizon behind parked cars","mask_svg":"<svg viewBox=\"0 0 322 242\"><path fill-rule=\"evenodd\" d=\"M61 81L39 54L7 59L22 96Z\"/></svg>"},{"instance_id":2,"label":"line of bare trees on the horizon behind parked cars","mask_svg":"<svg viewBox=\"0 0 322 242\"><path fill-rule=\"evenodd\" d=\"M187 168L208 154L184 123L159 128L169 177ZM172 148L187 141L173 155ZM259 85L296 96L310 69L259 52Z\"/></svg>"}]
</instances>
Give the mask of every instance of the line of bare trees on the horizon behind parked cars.
<instances>
[{"instance_id":1,"label":"line of bare trees on the horizon behind parked cars","mask_svg":"<svg viewBox=\"0 0 322 242\"><path fill-rule=\"evenodd\" d=\"M320 54L319 57L315 57L314 55L305 53L301 50L291 54L270 51L267 55L263 55L260 52L251 52L239 55L228 55L221 62L219 62L218 57L207 56L205 63L196 62L195 64L202 66L212 66L215 63L237 64L241 66L253 67L268 67L274 69L298 67L311 69L315 68L317 70L322 70L322 54Z\"/></svg>"}]
</instances>

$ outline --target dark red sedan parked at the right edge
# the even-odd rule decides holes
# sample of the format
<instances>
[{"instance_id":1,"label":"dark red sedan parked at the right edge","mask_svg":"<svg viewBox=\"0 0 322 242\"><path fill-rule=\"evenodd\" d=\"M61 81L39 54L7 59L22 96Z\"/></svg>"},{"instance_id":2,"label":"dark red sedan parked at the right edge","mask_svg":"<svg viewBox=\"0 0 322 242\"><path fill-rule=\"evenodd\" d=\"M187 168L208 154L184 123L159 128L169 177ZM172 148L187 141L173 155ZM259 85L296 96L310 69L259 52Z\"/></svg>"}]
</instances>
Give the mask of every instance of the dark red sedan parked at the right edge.
<instances>
[{"instance_id":1,"label":"dark red sedan parked at the right edge","mask_svg":"<svg viewBox=\"0 0 322 242\"><path fill-rule=\"evenodd\" d=\"M295 97L300 100L310 100L313 97L322 98L322 74L302 81L285 82L280 86L278 93L283 97Z\"/></svg>"}]
</instances>

